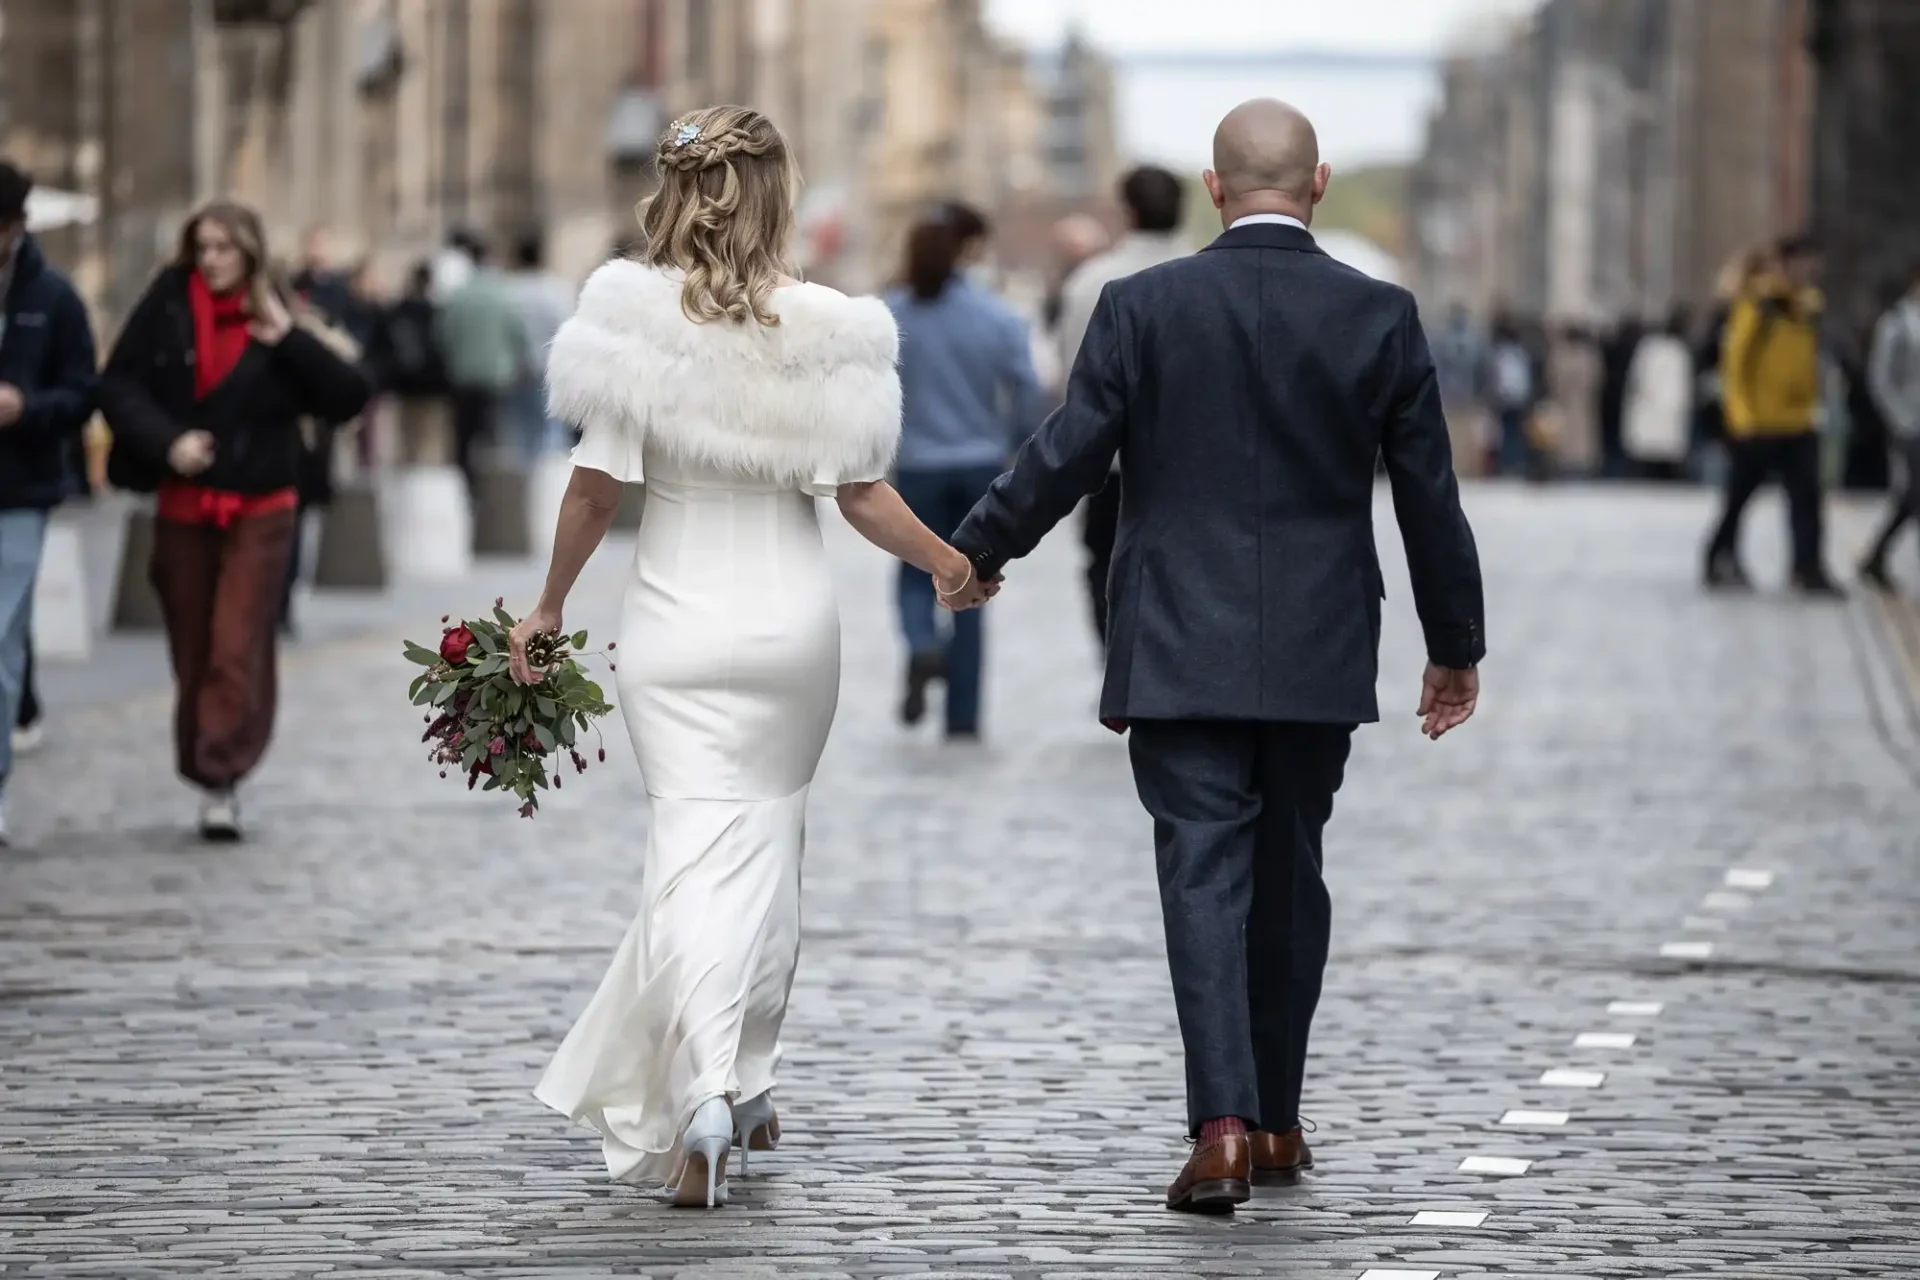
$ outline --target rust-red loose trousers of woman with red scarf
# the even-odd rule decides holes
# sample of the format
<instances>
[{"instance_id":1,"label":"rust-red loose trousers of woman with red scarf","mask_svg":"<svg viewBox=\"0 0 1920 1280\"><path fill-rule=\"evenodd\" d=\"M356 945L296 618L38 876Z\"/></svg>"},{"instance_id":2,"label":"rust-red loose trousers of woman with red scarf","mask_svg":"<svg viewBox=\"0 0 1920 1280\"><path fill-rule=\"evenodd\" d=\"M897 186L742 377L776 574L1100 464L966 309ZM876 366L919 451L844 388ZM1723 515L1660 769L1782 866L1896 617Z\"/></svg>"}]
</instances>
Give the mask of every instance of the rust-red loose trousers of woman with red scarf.
<instances>
[{"instance_id":1,"label":"rust-red loose trousers of woman with red scarf","mask_svg":"<svg viewBox=\"0 0 1920 1280\"><path fill-rule=\"evenodd\" d=\"M278 618L294 510L219 524L154 522L150 576L167 622L180 777L227 791L273 739Z\"/></svg>"}]
</instances>

